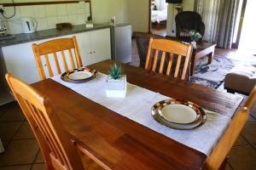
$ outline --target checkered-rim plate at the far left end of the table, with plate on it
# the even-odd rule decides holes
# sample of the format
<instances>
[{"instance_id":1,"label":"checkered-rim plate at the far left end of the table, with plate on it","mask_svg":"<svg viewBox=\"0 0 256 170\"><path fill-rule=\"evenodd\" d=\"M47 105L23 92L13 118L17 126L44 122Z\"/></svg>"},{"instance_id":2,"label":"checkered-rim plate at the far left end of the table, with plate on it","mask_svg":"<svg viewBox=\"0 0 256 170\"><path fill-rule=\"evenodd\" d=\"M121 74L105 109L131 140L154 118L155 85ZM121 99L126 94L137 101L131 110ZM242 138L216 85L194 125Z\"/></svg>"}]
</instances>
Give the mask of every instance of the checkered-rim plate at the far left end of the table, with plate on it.
<instances>
[{"instance_id":1,"label":"checkered-rim plate at the far left end of the table, with plate on it","mask_svg":"<svg viewBox=\"0 0 256 170\"><path fill-rule=\"evenodd\" d=\"M82 67L61 74L61 79L65 82L86 82L96 77L97 71Z\"/></svg>"}]
</instances>

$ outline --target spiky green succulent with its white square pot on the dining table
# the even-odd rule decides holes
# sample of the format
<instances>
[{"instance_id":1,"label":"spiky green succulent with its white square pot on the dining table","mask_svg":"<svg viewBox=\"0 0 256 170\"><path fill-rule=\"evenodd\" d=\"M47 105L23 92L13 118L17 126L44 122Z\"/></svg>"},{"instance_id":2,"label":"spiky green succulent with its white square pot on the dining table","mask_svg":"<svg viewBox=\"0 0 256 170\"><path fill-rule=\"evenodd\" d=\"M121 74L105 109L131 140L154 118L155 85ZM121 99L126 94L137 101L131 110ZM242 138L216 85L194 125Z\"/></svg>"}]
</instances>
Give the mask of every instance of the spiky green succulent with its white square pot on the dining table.
<instances>
[{"instance_id":1,"label":"spiky green succulent with its white square pot on the dining table","mask_svg":"<svg viewBox=\"0 0 256 170\"><path fill-rule=\"evenodd\" d=\"M110 98L125 98L126 76L122 75L121 67L116 64L110 67L106 84L106 94Z\"/></svg>"}]
</instances>

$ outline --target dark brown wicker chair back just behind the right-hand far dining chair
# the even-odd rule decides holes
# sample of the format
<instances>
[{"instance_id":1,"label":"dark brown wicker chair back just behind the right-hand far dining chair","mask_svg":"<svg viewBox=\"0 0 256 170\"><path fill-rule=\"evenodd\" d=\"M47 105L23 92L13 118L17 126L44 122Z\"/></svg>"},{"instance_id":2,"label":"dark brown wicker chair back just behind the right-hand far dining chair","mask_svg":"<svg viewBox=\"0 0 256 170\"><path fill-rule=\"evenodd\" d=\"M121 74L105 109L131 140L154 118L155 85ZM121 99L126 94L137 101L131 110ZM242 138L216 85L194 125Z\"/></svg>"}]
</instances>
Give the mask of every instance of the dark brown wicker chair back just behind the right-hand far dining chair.
<instances>
[{"instance_id":1,"label":"dark brown wicker chair back just behind the right-hand far dining chair","mask_svg":"<svg viewBox=\"0 0 256 170\"><path fill-rule=\"evenodd\" d=\"M136 44L137 44L137 52L140 58L140 67L145 68L150 37L154 37L154 38L165 38L165 37L144 33L144 32L134 32L133 37L135 37Z\"/></svg>"}]
</instances>

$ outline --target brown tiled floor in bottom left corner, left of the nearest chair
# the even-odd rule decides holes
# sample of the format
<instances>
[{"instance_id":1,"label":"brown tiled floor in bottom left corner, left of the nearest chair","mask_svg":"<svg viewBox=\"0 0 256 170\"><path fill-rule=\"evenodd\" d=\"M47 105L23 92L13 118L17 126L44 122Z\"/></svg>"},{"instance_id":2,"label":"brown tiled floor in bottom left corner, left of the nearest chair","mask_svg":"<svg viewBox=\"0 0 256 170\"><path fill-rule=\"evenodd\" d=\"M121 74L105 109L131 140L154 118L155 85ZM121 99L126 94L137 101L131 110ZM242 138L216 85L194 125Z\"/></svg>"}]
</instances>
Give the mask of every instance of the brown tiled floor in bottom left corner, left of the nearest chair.
<instances>
[{"instance_id":1,"label":"brown tiled floor in bottom left corner, left of the nearest chair","mask_svg":"<svg viewBox=\"0 0 256 170\"><path fill-rule=\"evenodd\" d=\"M0 170L46 169L38 142L15 102L0 107L0 137L5 149L0 154Z\"/></svg>"}]
</instances>

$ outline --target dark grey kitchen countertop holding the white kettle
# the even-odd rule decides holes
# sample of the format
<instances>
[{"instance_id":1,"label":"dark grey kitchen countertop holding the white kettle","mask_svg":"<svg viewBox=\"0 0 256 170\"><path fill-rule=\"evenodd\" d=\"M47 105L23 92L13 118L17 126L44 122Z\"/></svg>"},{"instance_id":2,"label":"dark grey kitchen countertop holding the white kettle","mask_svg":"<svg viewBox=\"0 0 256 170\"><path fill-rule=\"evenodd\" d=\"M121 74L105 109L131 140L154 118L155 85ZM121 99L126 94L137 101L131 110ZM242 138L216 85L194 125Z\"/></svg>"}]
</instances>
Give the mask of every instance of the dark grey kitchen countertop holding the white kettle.
<instances>
[{"instance_id":1,"label":"dark grey kitchen countertop holding the white kettle","mask_svg":"<svg viewBox=\"0 0 256 170\"><path fill-rule=\"evenodd\" d=\"M109 25L108 24L94 24L92 28L86 28L85 25L79 25L79 26L73 26L72 29L64 29L64 30L57 30L57 29L49 29L49 30L43 30L43 31L36 31L31 34L15 34L14 38L6 39L6 40L1 40L0 41L0 48L9 46L9 45L15 45L15 44L20 44L24 42L32 42L32 41L37 41L37 40L42 40L42 39L47 39L51 37L61 37L65 35L70 35L74 33L79 33L79 32L84 32L84 31L95 31L95 30L100 30L104 28L110 28L111 26L129 26L130 24L116 24L116 25Z\"/></svg>"}]
</instances>

